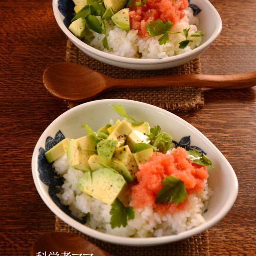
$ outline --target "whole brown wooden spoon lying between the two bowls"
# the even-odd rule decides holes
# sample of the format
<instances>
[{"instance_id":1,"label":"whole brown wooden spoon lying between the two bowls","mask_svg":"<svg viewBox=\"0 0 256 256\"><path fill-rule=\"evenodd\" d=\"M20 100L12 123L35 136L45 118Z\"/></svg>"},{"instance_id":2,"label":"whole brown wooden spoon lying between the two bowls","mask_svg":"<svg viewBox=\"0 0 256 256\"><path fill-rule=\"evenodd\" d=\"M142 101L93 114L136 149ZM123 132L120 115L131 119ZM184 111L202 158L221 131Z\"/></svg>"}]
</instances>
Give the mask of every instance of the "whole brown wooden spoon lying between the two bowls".
<instances>
[{"instance_id":1,"label":"whole brown wooden spoon lying between the two bowls","mask_svg":"<svg viewBox=\"0 0 256 256\"><path fill-rule=\"evenodd\" d=\"M118 79L71 62L59 62L43 74L46 89L70 102L82 102L114 88L190 86L200 88L242 89L256 85L256 71L232 75L184 74L136 79Z\"/></svg>"}]
</instances>

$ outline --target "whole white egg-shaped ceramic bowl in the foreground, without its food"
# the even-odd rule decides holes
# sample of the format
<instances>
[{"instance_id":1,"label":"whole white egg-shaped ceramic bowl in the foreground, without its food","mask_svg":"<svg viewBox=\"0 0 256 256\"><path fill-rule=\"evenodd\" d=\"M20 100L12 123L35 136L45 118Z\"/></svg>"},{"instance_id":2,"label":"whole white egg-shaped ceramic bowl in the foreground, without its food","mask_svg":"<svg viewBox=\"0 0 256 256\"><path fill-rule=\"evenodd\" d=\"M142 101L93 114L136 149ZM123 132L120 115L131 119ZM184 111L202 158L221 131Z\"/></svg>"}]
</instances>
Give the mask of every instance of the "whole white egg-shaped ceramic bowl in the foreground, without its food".
<instances>
[{"instance_id":1,"label":"whole white egg-shaped ceramic bowl in the foreground, without its food","mask_svg":"<svg viewBox=\"0 0 256 256\"><path fill-rule=\"evenodd\" d=\"M49 150L64 136L68 138L84 136L85 131L81 128L83 124L88 124L93 130L97 130L100 126L108 123L110 119L116 120L120 118L113 111L113 104L122 104L128 114L136 120L146 120L150 123L150 126L160 125L162 131L171 134L173 140L180 146L184 146L187 149L193 146L201 148L206 152L208 158L212 160L215 168L209 169L208 184L214 190L214 194L210 197L207 212L203 214L206 220L203 224L170 236L151 238L118 237L117 239L116 236L99 232L80 223L72 217L68 208L60 204L55 194L59 192L56 186L61 185L58 183L61 179L54 178L55 174L51 164L48 164L44 157L45 150ZM238 181L234 170L222 153L201 132L182 118L166 110L132 100L96 100L64 112L40 136L32 156L32 174L42 200L61 220L80 232L99 240L129 246L148 246L176 242L203 232L227 214L238 193Z\"/></svg>"}]
</instances>

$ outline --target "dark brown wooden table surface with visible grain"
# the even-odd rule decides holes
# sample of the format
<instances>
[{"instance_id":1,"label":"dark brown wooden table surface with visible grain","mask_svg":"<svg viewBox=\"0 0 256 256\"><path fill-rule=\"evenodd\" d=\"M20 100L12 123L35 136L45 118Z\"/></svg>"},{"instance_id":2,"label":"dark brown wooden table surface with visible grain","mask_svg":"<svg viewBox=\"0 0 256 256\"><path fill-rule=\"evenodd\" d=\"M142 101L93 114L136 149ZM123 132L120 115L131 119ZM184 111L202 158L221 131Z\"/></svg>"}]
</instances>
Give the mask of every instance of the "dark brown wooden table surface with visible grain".
<instances>
[{"instance_id":1,"label":"dark brown wooden table surface with visible grain","mask_svg":"<svg viewBox=\"0 0 256 256\"><path fill-rule=\"evenodd\" d=\"M201 56L202 72L256 69L256 1L212 0L223 30ZM48 0L0 1L0 254L28 255L32 242L54 230L54 214L38 195L31 174L34 146L67 110L42 84L44 69L65 59L66 38ZM207 90L201 110L176 113L206 135L233 166L238 198L210 228L210 255L256 255L256 88Z\"/></svg>"}]
</instances>

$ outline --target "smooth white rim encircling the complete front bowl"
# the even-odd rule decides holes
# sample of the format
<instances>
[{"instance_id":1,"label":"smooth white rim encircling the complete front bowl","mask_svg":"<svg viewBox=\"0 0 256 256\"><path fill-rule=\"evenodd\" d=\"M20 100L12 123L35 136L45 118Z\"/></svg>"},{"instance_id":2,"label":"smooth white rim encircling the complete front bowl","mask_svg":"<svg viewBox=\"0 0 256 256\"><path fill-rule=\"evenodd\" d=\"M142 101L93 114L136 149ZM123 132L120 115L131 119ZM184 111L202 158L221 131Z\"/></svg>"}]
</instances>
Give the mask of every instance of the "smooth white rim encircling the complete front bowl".
<instances>
[{"instance_id":1,"label":"smooth white rim encircling the complete front bowl","mask_svg":"<svg viewBox=\"0 0 256 256\"><path fill-rule=\"evenodd\" d=\"M216 214L213 218L210 220L204 222L203 224L200 224L197 227L194 227L190 230L180 232L179 234L172 234L168 236L161 236L161 237L148 237L148 238L131 238L131 237L122 237L122 236L115 236L107 233L103 233L97 230L93 230L92 228L89 228L80 222L77 222L67 214L65 214L58 206L52 201L48 194L48 189L46 189L46 185L42 183L42 181L39 178L39 173L38 173L38 152L40 147L44 147L44 142L47 136L50 135L50 130L52 129L52 126L58 124L58 122L62 119L65 119L67 116L72 115L73 112L76 112L76 110L86 108L87 106L95 106L97 104L106 104L112 105L112 104L131 104L133 106L140 106L144 107L147 109L146 111L152 110L152 111L158 111L159 114L162 114L163 116L168 116L169 118L172 118L178 125L186 126L189 128L190 131L195 132L200 136L200 138L204 141L204 143L211 148L214 153L218 154L218 157L220 157L220 162L223 162L225 164L226 171L229 172L230 174L230 184L232 185L232 193L229 194L226 204L222 209ZM150 121L150 120L149 120ZM34 152L32 155L32 176L33 180L36 186L36 189L41 196L42 200L44 203L50 208L50 210L58 216L62 221L66 222L70 226L74 227L76 230L79 230L80 232L87 234L89 236L92 236L96 239L105 241L105 242L110 242L112 244L122 244L122 245L128 245L128 246L152 246L152 245L158 245L158 244L166 244L169 242L176 242L179 240L183 240L185 238L188 238L190 236L199 234L208 228L212 227L214 224L219 222L231 209L233 206L237 194L238 194L238 180L236 177L236 174L228 162L226 158L222 155L222 153L204 136L199 130L197 130L194 126L183 120L182 118L176 116L175 114L172 114L168 112L167 110L164 110L162 108L158 108L156 106L152 106L150 104L146 104L143 102L137 102L133 100L122 100L122 99L106 99L106 100L95 100L91 102L87 102L81 105L78 105L74 108L71 108L70 110L67 110L60 116L58 116L47 128L44 130L40 138L38 139L38 142L36 143L36 146L34 148ZM47 186L48 188L48 186ZM117 239L118 238L118 239Z\"/></svg>"}]
</instances>

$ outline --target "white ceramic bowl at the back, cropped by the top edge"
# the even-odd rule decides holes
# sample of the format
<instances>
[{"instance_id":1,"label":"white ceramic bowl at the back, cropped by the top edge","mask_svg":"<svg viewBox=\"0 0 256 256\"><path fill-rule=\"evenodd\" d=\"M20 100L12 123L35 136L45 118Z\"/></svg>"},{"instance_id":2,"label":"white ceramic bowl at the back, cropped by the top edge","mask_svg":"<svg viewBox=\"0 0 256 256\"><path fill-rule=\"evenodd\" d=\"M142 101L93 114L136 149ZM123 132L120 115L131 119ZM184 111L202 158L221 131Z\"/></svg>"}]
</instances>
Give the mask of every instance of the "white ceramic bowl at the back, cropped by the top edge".
<instances>
[{"instance_id":1,"label":"white ceramic bowl at the back, cropped by the top edge","mask_svg":"<svg viewBox=\"0 0 256 256\"><path fill-rule=\"evenodd\" d=\"M198 12L198 8L201 10L197 14L200 18L199 29L204 32L205 36L202 38L202 44L200 46L190 52L162 59L136 59L120 57L102 52L89 46L88 44L85 44L68 30L67 27L70 24L69 22L73 18L73 6L70 6L69 1L71 0L52 1L54 16L61 30L80 50L92 58L121 68L157 70L182 65L202 54L216 39L222 29L220 15L208 0L191 0L190 4L194 8L194 12ZM69 6L67 6L68 4Z\"/></svg>"}]
</instances>

